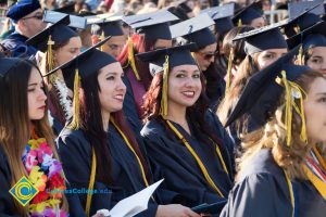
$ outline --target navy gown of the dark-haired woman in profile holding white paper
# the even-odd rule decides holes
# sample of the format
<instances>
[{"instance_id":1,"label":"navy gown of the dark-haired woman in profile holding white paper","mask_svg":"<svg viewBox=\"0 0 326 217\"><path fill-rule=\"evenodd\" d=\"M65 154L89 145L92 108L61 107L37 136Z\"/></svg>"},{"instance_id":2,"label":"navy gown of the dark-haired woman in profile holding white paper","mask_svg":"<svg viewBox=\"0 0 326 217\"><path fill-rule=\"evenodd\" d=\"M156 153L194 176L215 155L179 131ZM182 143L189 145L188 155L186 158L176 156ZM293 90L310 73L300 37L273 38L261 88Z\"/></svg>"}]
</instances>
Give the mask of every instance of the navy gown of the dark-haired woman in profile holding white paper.
<instances>
[{"instance_id":1,"label":"navy gown of the dark-haired woman in profile holding white paper","mask_svg":"<svg viewBox=\"0 0 326 217\"><path fill-rule=\"evenodd\" d=\"M138 162L113 125L109 127L111 175L114 183L104 184L96 180L95 189L109 189L110 194L93 194L90 214L98 209L111 209L118 201L146 188ZM66 178L74 188L88 189L91 168L91 146L82 130L64 128L58 139L59 154ZM85 207L87 194L78 194ZM150 200L148 209L138 216L155 216L158 205Z\"/></svg>"}]
</instances>

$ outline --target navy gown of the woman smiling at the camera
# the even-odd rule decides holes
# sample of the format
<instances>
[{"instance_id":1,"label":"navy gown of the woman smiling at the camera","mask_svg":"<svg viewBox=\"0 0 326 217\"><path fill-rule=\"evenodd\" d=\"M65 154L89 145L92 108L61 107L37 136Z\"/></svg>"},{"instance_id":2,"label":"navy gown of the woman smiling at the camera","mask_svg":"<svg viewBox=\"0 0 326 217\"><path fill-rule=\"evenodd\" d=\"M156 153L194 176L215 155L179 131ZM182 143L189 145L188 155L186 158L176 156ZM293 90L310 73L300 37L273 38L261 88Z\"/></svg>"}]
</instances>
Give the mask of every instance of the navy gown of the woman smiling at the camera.
<instances>
[{"instance_id":1,"label":"navy gown of the woman smiling at the camera","mask_svg":"<svg viewBox=\"0 0 326 217\"><path fill-rule=\"evenodd\" d=\"M186 138L204 164L214 183L220 188L225 197L227 197L233 187L234 169L231 153L234 144L215 114L208 113L208 124L224 142L222 145L226 149L221 151L227 169L230 173L229 176L224 171L215 150L203 142L202 138L205 135L202 135L190 124L189 127L192 135L190 136L179 125L171 123ZM216 203L223 200L208 183L195 157L184 143L161 120L154 119L148 122L140 133L146 144L154 179L165 178L162 188L170 191L171 194L175 194L172 203L180 203L192 207L202 203Z\"/></svg>"}]
</instances>

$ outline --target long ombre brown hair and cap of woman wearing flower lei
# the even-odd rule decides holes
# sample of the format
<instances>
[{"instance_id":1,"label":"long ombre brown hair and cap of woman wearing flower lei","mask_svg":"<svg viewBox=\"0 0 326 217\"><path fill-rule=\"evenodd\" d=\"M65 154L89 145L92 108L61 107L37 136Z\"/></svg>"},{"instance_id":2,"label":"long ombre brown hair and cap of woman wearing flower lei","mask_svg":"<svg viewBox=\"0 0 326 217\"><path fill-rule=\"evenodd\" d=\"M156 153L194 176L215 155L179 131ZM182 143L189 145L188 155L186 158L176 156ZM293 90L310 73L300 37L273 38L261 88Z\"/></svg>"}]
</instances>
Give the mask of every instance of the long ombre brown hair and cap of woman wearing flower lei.
<instances>
[{"instance_id":1,"label":"long ombre brown hair and cap of woman wearing flower lei","mask_svg":"<svg viewBox=\"0 0 326 217\"><path fill-rule=\"evenodd\" d=\"M54 157L59 159L53 132L48 120L48 105L41 119L30 122L28 117L27 87L34 67L37 68L29 61L17 60L15 66L0 79L0 146L9 162L12 186L23 176L27 177L26 168L21 159L33 128L38 137L46 138ZM20 215L27 216L28 206L23 207L15 200L14 203ZM63 197L62 205L67 210L65 197Z\"/></svg>"}]
</instances>

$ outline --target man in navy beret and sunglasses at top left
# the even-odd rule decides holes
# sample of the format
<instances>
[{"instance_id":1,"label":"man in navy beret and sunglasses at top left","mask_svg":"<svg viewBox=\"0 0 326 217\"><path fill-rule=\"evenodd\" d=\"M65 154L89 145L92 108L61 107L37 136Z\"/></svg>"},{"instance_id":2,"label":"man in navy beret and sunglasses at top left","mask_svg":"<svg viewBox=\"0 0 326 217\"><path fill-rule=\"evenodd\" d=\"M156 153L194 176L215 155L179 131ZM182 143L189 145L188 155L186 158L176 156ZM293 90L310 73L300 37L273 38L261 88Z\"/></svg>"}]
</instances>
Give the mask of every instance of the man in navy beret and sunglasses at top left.
<instances>
[{"instance_id":1,"label":"man in navy beret and sunglasses at top left","mask_svg":"<svg viewBox=\"0 0 326 217\"><path fill-rule=\"evenodd\" d=\"M26 46L25 41L46 28L42 22L43 12L38 0L21 0L12 5L8 13L15 27L2 46L11 51L12 56L24 58L35 55L37 49Z\"/></svg>"}]
</instances>

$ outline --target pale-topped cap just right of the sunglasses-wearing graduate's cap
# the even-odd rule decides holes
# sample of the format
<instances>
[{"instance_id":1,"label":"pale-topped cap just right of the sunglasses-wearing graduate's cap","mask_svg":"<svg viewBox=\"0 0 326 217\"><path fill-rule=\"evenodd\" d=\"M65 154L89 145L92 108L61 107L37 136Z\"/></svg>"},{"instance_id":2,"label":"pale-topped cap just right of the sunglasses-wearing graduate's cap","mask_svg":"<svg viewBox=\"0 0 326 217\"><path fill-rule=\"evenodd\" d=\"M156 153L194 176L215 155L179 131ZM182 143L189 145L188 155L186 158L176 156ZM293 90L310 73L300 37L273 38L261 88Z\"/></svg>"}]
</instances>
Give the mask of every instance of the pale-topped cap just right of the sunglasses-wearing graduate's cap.
<instances>
[{"instance_id":1,"label":"pale-topped cap just right of the sunglasses-wearing graduate's cap","mask_svg":"<svg viewBox=\"0 0 326 217\"><path fill-rule=\"evenodd\" d=\"M215 22L216 30L220 35L225 35L234 27L231 16L235 13L235 3L228 3L222 7L214 7L202 10L201 13L208 13Z\"/></svg>"}]
</instances>

